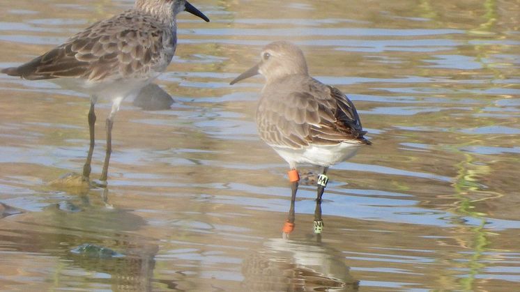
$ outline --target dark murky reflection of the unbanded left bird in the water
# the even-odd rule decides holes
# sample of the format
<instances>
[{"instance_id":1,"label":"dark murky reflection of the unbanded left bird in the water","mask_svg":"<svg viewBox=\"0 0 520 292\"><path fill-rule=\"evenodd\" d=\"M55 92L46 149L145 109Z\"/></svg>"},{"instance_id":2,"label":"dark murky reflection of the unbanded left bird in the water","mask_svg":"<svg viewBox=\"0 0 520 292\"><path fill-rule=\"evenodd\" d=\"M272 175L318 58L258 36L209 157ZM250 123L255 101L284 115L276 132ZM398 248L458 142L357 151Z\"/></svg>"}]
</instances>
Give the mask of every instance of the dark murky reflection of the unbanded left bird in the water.
<instances>
[{"instance_id":1,"label":"dark murky reflection of the unbanded left bird in the water","mask_svg":"<svg viewBox=\"0 0 520 292\"><path fill-rule=\"evenodd\" d=\"M0 245L21 255L41 254L34 268L56 262L56 282L82 283L87 290L153 291L158 244L139 235L146 220L108 200L108 189L49 199L42 211L20 212L9 226L0 226ZM27 277L24 270L31 269L14 277Z\"/></svg>"}]
</instances>

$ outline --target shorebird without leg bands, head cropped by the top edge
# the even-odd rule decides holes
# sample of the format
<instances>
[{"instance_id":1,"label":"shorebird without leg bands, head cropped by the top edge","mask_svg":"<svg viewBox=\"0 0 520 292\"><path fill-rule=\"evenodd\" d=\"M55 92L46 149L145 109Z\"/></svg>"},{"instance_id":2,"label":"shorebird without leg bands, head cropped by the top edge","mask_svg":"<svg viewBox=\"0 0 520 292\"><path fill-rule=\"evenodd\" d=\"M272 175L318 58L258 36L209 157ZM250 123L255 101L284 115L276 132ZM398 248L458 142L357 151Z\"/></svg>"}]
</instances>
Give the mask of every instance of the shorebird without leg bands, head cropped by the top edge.
<instances>
[{"instance_id":1,"label":"shorebird without leg bands, head cropped by the top edge","mask_svg":"<svg viewBox=\"0 0 520 292\"><path fill-rule=\"evenodd\" d=\"M185 0L136 0L135 7L92 24L65 43L1 72L29 80L54 79L64 88L91 95L90 147L83 167L89 178L94 150L94 105L98 98L112 100L107 117L107 149L100 180L107 180L112 153L112 125L121 102L135 96L165 71L177 46L176 15L188 11L208 17Z\"/></svg>"}]
</instances>

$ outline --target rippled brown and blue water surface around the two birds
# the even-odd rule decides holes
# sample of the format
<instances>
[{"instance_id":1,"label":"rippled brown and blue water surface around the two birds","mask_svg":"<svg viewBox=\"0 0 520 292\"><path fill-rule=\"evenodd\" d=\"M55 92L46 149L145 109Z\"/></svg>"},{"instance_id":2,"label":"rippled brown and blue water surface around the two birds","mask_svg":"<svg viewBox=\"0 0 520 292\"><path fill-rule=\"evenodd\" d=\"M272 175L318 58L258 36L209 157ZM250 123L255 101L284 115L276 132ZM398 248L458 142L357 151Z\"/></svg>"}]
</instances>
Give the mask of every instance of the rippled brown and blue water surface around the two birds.
<instances>
[{"instance_id":1,"label":"rippled brown and blue water surface around the two birds","mask_svg":"<svg viewBox=\"0 0 520 292\"><path fill-rule=\"evenodd\" d=\"M176 102L123 104L106 191L49 186L82 169L88 97L0 75L0 290L518 290L518 1L192 4L211 22L179 16L157 80ZM0 67L131 5L2 1ZM374 142L330 169L321 242L312 185L281 238L288 166L257 137L263 80L228 85L273 40L348 93Z\"/></svg>"}]
</instances>

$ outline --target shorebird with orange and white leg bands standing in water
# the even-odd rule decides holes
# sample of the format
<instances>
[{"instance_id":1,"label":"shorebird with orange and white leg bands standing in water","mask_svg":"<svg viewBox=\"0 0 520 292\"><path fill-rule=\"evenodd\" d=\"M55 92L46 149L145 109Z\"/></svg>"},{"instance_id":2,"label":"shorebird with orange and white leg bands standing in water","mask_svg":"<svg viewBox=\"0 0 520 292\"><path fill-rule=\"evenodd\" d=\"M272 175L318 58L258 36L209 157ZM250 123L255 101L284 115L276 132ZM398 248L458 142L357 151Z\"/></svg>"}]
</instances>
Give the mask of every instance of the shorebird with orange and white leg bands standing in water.
<instances>
[{"instance_id":1,"label":"shorebird with orange and white leg bands standing in water","mask_svg":"<svg viewBox=\"0 0 520 292\"><path fill-rule=\"evenodd\" d=\"M263 48L261 61L230 84L261 74L266 85L257 108L257 128L261 139L289 163L291 208L284 234L294 229L294 201L300 177L298 163L323 167L318 178L314 211L314 232L321 233L321 197L332 164L352 157L365 139L353 103L341 91L309 76L303 52L289 42L278 41Z\"/></svg>"}]
</instances>

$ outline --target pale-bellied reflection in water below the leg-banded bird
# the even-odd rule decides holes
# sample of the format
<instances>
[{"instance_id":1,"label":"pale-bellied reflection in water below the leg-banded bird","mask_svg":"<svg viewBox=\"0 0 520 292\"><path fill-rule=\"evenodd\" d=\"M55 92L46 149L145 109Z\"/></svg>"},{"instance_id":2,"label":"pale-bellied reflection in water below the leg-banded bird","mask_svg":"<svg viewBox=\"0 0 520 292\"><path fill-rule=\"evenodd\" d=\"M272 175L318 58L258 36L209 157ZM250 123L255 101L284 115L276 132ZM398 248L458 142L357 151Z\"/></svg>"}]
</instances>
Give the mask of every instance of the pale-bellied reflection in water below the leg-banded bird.
<instances>
[{"instance_id":1,"label":"pale-bellied reflection in water below the leg-banded bird","mask_svg":"<svg viewBox=\"0 0 520 292\"><path fill-rule=\"evenodd\" d=\"M245 291L358 291L344 256L312 240L269 239L242 266Z\"/></svg>"}]
</instances>

